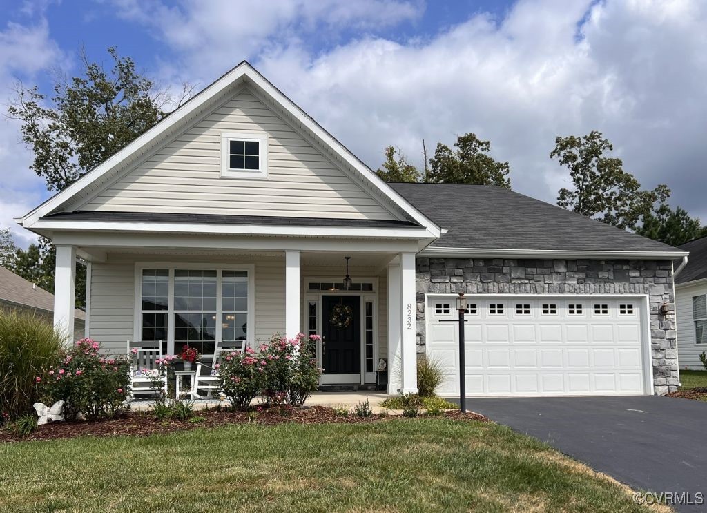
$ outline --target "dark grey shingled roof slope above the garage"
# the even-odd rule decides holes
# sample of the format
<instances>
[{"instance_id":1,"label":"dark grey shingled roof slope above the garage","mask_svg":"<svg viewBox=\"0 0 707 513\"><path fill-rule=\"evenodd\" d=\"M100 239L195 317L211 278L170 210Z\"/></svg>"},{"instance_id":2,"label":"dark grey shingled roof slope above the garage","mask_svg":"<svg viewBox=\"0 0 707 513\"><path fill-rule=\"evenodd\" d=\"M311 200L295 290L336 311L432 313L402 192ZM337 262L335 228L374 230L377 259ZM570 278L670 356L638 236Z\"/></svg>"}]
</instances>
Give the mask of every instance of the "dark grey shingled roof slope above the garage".
<instances>
[{"instance_id":1,"label":"dark grey shingled roof slope above the garage","mask_svg":"<svg viewBox=\"0 0 707 513\"><path fill-rule=\"evenodd\" d=\"M425 252L448 249L513 251L542 255L583 254L640 258L682 257L682 250L559 206L501 187L466 184L390 184L448 231ZM484 253L483 251L480 253ZM488 251L488 254L493 254ZM643 255L645 254L645 255Z\"/></svg>"}]
</instances>

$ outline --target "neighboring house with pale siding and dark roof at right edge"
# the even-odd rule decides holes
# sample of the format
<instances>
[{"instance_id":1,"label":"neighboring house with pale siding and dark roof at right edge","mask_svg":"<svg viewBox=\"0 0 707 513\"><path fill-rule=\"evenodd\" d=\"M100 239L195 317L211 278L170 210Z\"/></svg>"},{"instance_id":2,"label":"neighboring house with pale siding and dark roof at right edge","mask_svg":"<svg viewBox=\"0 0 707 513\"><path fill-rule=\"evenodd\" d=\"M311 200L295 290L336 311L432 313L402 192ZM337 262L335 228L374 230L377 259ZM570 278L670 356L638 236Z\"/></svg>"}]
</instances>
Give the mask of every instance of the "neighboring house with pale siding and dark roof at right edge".
<instances>
[{"instance_id":1,"label":"neighboring house with pale siding and dark roof at right edge","mask_svg":"<svg viewBox=\"0 0 707 513\"><path fill-rule=\"evenodd\" d=\"M675 275L677 348L682 369L704 370L707 351L707 237L682 244L689 261Z\"/></svg>"}]
</instances>

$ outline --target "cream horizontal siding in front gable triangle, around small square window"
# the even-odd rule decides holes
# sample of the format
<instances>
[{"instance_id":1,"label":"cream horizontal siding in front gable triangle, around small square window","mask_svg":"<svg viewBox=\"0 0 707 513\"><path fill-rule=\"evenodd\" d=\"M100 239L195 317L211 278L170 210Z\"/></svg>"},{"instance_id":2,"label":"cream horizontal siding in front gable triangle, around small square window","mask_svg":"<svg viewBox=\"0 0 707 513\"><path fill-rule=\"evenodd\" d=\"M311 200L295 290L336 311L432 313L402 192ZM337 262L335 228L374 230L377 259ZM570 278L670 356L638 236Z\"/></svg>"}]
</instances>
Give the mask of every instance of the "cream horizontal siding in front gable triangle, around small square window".
<instances>
[{"instance_id":1,"label":"cream horizontal siding in front gable triangle, around small square window","mask_svg":"<svg viewBox=\"0 0 707 513\"><path fill-rule=\"evenodd\" d=\"M220 134L267 132L269 179L220 177ZM394 219L338 165L255 98L234 93L79 210Z\"/></svg>"}]
</instances>

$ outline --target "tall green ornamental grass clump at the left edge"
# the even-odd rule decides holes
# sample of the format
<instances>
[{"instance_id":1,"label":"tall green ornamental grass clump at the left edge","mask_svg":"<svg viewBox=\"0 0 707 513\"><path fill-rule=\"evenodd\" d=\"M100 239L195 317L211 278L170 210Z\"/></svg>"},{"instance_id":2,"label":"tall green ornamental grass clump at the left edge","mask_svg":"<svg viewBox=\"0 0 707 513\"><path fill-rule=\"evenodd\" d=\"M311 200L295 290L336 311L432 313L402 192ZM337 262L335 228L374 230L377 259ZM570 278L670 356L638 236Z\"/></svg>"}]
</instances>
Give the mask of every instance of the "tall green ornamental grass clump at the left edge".
<instances>
[{"instance_id":1,"label":"tall green ornamental grass clump at the left edge","mask_svg":"<svg viewBox=\"0 0 707 513\"><path fill-rule=\"evenodd\" d=\"M32 412L41 395L37 376L59 361L62 341L44 319L0 312L0 424Z\"/></svg>"}]
</instances>

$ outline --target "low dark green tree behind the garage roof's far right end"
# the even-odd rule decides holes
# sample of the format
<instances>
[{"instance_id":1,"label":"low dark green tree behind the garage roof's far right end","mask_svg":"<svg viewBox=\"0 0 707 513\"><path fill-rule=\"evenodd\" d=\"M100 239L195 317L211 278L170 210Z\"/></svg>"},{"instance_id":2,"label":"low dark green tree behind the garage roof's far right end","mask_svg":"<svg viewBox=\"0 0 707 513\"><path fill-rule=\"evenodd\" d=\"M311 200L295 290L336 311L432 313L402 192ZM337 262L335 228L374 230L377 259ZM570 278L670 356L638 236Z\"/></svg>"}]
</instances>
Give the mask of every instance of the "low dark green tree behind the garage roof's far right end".
<instances>
[{"instance_id":1,"label":"low dark green tree behind the garage roof's far right end","mask_svg":"<svg viewBox=\"0 0 707 513\"><path fill-rule=\"evenodd\" d=\"M643 216L643 223L636 228L636 233L671 246L679 246L707 236L707 226L701 226L698 218L691 218L681 207L672 210L667 204L660 204L653 213Z\"/></svg>"}]
</instances>

